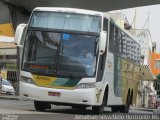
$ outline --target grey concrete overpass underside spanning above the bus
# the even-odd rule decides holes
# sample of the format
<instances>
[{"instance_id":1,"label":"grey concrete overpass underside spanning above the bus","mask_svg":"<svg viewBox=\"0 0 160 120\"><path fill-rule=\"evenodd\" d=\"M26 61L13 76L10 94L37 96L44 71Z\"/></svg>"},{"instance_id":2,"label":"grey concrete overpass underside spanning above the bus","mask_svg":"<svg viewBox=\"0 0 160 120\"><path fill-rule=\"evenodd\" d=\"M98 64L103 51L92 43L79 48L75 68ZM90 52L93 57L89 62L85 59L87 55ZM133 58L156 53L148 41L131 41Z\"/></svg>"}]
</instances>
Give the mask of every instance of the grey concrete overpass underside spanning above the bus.
<instances>
[{"instance_id":1,"label":"grey concrete overpass underside spanning above the bus","mask_svg":"<svg viewBox=\"0 0 160 120\"><path fill-rule=\"evenodd\" d=\"M41 7L69 7L96 11L111 11L145 5L160 4L160 0L5 0L32 11Z\"/></svg>"}]
</instances>

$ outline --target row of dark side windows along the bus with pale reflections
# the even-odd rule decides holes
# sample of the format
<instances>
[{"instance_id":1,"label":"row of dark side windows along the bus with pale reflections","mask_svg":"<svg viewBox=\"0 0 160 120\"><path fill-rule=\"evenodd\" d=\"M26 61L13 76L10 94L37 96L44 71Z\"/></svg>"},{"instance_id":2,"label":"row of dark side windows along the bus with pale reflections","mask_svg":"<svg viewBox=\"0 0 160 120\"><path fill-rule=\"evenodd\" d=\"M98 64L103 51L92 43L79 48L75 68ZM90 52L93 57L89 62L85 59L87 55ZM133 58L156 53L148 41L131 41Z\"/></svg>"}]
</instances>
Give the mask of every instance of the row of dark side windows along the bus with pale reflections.
<instances>
[{"instance_id":1,"label":"row of dark side windows along the bus with pale reflections","mask_svg":"<svg viewBox=\"0 0 160 120\"><path fill-rule=\"evenodd\" d=\"M110 24L109 50L136 64L140 62L140 46L133 38L125 34L121 29Z\"/></svg>"}]
</instances>

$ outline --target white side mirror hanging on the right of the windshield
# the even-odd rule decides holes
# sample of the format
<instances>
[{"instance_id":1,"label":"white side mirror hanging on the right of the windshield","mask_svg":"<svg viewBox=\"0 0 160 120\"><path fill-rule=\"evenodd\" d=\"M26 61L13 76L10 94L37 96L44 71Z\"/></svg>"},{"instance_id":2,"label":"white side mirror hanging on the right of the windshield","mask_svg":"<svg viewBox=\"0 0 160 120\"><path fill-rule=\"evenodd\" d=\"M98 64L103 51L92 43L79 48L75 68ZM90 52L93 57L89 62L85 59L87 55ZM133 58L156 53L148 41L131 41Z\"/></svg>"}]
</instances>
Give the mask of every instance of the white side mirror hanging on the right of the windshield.
<instances>
[{"instance_id":1,"label":"white side mirror hanging on the right of the windshield","mask_svg":"<svg viewBox=\"0 0 160 120\"><path fill-rule=\"evenodd\" d=\"M100 54L103 54L105 52L106 40L107 40L107 32L106 31L100 32L100 45L99 45Z\"/></svg>"}]
</instances>

